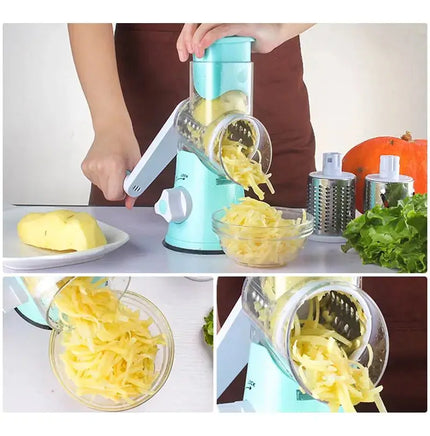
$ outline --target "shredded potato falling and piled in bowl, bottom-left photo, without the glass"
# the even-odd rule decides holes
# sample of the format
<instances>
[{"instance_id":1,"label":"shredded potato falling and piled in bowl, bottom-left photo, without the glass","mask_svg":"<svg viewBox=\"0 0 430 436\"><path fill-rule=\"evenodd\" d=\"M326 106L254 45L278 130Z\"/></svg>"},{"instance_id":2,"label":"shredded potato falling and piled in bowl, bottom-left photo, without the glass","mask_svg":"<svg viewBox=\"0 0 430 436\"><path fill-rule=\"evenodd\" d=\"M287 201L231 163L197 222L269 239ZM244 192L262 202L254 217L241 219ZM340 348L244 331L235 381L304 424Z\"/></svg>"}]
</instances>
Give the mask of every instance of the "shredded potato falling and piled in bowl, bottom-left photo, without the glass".
<instances>
[{"instance_id":1,"label":"shredded potato falling and piled in bowl, bottom-left photo, without the glass","mask_svg":"<svg viewBox=\"0 0 430 436\"><path fill-rule=\"evenodd\" d=\"M61 359L78 395L101 395L131 402L150 392L162 335L152 336L151 319L122 304L90 278L75 279L55 299L62 333Z\"/></svg>"}]
</instances>

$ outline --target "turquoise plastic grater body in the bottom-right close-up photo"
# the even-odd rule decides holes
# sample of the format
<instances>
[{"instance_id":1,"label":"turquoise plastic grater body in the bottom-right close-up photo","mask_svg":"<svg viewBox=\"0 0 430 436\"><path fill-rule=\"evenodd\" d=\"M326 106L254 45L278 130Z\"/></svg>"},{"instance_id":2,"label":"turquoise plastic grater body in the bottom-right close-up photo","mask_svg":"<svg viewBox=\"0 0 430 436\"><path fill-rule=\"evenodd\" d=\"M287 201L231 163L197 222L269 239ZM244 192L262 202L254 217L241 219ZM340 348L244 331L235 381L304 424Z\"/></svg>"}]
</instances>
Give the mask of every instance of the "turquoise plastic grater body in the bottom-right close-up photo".
<instances>
[{"instance_id":1,"label":"turquoise plastic grater body in the bottom-right close-up photo","mask_svg":"<svg viewBox=\"0 0 430 436\"><path fill-rule=\"evenodd\" d=\"M268 350L251 342L243 399L256 412L329 412L327 404L303 394L276 365Z\"/></svg>"}]
</instances>

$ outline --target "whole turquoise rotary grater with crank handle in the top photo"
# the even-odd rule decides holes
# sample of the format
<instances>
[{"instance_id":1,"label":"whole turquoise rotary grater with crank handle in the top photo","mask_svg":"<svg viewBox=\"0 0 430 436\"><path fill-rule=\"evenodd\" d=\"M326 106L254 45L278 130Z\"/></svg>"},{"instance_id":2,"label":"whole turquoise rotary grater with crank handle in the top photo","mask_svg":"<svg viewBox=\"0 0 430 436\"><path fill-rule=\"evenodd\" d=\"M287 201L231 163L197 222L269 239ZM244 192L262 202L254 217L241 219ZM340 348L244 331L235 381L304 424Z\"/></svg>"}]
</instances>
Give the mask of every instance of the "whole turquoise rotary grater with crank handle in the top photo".
<instances>
[{"instance_id":1,"label":"whole turquoise rotary grater with crank handle in the top photo","mask_svg":"<svg viewBox=\"0 0 430 436\"><path fill-rule=\"evenodd\" d=\"M190 97L176 107L124 181L124 191L137 197L176 156L174 187L164 189L154 207L169 223L163 244L172 250L223 253L212 214L244 197L224 166L223 138L244 143L263 171L270 168L269 135L252 116L252 41L223 38L202 58L193 58Z\"/></svg>"}]
</instances>

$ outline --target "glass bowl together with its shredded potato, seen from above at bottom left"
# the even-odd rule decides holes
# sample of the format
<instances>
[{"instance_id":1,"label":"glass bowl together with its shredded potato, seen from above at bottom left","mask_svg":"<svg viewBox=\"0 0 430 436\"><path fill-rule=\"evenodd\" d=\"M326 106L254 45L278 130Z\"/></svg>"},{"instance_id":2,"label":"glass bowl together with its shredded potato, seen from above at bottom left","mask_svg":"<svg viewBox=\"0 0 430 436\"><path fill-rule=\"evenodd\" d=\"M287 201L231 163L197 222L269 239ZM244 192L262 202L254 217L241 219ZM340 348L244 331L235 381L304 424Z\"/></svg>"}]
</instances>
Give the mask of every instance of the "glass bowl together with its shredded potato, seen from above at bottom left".
<instances>
[{"instance_id":1,"label":"glass bowl together with its shredded potato, seen from above at bottom left","mask_svg":"<svg viewBox=\"0 0 430 436\"><path fill-rule=\"evenodd\" d=\"M167 321L139 294L75 279L55 299L63 325L53 331L51 365L66 391L88 407L126 410L151 398L173 362Z\"/></svg>"}]
</instances>

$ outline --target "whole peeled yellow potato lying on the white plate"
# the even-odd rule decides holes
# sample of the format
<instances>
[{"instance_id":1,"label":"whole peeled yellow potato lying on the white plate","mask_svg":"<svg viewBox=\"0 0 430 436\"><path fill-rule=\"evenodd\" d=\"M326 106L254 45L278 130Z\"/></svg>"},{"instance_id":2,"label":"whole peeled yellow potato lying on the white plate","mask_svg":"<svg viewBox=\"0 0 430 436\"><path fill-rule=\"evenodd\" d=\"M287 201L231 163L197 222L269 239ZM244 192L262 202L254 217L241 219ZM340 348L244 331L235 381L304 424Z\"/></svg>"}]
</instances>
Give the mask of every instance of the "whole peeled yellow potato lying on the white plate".
<instances>
[{"instance_id":1,"label":"whole peeled yellow potato lying on the white plate","mask_svg":"<svg viewBox=\"0 0 430 436\"><path fill-rule=\"evenodd\" d=\"M19 221L17 230L25 244L49 250L82 251L107 243L97 221L86 212L30 213Z\"/></svg>"}]
</instances>

